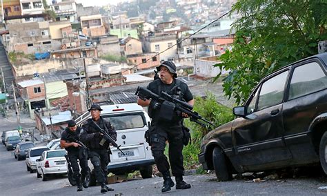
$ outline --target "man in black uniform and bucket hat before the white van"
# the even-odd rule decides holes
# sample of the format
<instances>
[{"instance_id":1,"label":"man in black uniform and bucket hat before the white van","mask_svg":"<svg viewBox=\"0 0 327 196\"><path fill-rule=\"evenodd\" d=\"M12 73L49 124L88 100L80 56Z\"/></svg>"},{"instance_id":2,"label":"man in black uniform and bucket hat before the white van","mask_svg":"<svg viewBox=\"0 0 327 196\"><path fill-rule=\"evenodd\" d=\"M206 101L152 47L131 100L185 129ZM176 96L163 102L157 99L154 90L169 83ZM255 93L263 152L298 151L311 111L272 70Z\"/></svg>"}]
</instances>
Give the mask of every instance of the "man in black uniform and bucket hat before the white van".
<instances>
[{"instance_id":1,"label":"man in black uniform and bucket hat before the white van","mask_svg":"<svg viewBox=\"0 0 327 196\"><path fill-rule=\"evenodd\" d=\"M92 104L88 111L91 113L92 119L88 119L88 121L83 124L81 141L89 148L88 155L95 167L95 177L97 178L97 182L101 185L101 193L106 193L107 191L114 190L106 186L106 176L108 175L107 166L110 162L109 154L111 154L111 151L106 135L99 133L99 130L92 121L95 121L95 123L97 123L100 128L103 128L115 141L117 139L117 133L110 122L100 116L102 109L98 104Z\"/></svg>"}]
</instances>

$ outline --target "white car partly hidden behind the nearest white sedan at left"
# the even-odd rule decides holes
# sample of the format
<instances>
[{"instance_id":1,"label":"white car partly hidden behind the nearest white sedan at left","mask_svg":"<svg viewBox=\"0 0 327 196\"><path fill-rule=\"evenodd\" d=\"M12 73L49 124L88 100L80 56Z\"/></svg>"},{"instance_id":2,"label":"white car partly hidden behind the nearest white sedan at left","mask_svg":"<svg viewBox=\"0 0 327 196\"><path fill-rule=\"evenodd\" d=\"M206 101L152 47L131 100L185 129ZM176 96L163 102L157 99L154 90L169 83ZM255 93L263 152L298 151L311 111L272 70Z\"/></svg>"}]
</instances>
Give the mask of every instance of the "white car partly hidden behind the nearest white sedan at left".
<instances>
[{"instance_id":1,"label":"white car partly hidden behind the nearest white sedan at left","mask_svg":"<svg viewBox=\"0 0 327 196\"><path fill-rule=\"evenodd\" d=\"M37 170L37 159L41 157L43 151L49 150L46 146L37 146L28 149L26 154L26 168L30 173L34 173Z\"/></svg>"}]
</instances>

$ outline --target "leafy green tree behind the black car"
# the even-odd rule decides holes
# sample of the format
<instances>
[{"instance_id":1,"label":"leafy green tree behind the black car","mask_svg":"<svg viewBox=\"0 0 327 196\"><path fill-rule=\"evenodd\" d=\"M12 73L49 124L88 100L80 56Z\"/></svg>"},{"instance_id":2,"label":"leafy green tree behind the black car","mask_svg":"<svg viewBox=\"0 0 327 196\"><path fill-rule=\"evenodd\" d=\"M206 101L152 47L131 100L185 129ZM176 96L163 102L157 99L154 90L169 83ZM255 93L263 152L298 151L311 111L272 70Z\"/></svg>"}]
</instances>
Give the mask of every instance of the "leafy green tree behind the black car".
<instances>
[{"instance_id":1,"label":"leafy green tree behind the black car","mask_svg":"<svg viewBox=\"0 0 327 196\"><path fill-rule=\"evenodd\" d=\"M326 10L326 0L238 0L232 51L215 65L230 70L225 94L244 103L264 75L317 54L317 43L327 39Z\"/></svg>"}]
</instances>

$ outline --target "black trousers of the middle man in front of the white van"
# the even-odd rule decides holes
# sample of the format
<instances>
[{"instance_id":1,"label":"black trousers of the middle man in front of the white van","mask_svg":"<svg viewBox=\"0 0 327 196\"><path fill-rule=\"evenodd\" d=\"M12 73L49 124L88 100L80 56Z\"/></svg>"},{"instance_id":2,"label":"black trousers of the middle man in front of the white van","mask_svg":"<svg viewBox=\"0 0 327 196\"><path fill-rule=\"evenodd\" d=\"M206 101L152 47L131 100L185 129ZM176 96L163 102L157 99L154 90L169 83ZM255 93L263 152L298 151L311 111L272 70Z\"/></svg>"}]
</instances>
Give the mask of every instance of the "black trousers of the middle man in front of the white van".
<instances>
[{"instance_id":1,"label":"black trousers of the middle man in front of the white van","mask_svg":"<svg viewBox=\"0 0 327 196\"><path fill-rule=\"evenodd\" d=\"M88 155L95 167L95 177L97 178L97 182L99 182L99 184L106 183L106 177L108 175L107 166L110 162L107 150L89 150Z\"/></svg>"}]
</instances>

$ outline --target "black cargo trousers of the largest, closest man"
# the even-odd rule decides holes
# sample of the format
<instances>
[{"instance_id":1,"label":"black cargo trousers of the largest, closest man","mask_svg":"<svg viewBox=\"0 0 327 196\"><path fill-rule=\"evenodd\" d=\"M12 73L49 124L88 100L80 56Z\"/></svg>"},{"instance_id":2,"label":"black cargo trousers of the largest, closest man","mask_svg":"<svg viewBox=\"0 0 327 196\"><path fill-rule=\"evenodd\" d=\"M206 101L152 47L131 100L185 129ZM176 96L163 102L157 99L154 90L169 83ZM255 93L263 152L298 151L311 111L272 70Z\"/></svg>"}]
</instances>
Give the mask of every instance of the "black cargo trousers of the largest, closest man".
<instances>
[{"instance_id":1,"label":"black cargo trousers of the largest, closest man","mask_svg":"<svg viewBox=\"0 0 327 196\"><path fill-rule=\"evenodd\" d=\"M172 168L172 175L181 176L184 175L183 166L183 132L181 125L177 126L152 126L150 132L151 140L151 151L153 157L155 157L155 164L159 172L166 173L170 166ZM166 140L169 142L169 161L166 155L164 155L164 150L166 147Z\"/></svg>"}]
</instances>

